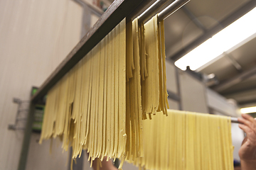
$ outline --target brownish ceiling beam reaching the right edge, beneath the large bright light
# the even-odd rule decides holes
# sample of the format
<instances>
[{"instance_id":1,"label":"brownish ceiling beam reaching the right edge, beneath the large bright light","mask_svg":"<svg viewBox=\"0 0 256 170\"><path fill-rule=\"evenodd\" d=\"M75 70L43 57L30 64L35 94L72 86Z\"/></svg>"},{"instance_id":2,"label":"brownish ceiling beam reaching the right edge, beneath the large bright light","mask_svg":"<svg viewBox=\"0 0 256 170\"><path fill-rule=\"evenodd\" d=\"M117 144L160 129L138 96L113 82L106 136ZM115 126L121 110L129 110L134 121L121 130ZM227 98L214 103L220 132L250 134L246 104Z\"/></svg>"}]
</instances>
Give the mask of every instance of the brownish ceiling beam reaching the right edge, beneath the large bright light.
<instances>
[{"instance_id":1,"label":"brownish ceiling beam reaching the right edge, beneath the large bright light","mask_svg":"<svg viewBox=\"0 0 256 170\"><path fill-rule=\"evenodd\" d=\"M218 92L224 91L225 89L228 89L230 86L238 84L241 81L244 81L245 79L248 79L249 77L252 77L255 74L256 74L256 66L252 67L251 69L248 69L245 72L238 74L235 77L232 77L224 81L223 83L218 84L217 86L213 87L213 90Z\"/></svg>"}]
</instances>

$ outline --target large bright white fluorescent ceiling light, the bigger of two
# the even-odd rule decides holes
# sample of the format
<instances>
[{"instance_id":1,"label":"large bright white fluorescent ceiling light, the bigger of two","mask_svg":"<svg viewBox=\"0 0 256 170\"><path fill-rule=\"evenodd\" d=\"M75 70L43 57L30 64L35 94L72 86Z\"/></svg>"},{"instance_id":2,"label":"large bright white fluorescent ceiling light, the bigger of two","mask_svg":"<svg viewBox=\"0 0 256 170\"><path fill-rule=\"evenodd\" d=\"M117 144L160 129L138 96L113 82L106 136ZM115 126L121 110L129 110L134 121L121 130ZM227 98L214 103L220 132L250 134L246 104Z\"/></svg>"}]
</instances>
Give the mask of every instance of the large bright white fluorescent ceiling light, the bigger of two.
<instances>
[{"instance_id":1,"label":"large bright white fluorescent ceiling light, the bigger of two","mask_svg":"<svg viewBox=\"0 0 256 170\"><path fill-rule=\"evenodd\" d=\"M239 42L256 33L255 18L256 8L253 8L237 21L231 23L230 26L213 35L213 38L206 40L177 60L175 62L176 67L186 70L186 66L190 66L192 70L196 70L223 54L223 52L230 50Z\"/></svg>"}]
</instances>

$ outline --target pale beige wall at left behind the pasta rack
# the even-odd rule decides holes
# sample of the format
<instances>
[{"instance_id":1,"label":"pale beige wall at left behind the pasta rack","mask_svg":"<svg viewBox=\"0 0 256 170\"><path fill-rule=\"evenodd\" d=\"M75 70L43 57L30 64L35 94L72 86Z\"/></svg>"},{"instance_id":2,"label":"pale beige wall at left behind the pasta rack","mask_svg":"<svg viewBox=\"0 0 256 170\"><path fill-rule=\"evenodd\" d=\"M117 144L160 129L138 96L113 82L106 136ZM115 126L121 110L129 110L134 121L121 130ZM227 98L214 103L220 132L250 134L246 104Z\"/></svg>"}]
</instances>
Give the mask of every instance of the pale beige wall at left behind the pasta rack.
<instances>
[{"instance_id":1,"label":"pale beige wall at left behind the pasta rack","mask_svg":"<svg viewBox=\"0 0 256 170\"><path fill-rule=\"evenodd\" d=\"M81 17L82 8L70 0L0 1L0 169L17 169L21 152L23 131L8 130L17 110L12 98L28 100L31 87L40 86L73 49ZM49 143L36 140L33 134L27 169L65 167L67 153L58 149L53 155L63 160L51 159Z\"/></svg>"}]
</instances>

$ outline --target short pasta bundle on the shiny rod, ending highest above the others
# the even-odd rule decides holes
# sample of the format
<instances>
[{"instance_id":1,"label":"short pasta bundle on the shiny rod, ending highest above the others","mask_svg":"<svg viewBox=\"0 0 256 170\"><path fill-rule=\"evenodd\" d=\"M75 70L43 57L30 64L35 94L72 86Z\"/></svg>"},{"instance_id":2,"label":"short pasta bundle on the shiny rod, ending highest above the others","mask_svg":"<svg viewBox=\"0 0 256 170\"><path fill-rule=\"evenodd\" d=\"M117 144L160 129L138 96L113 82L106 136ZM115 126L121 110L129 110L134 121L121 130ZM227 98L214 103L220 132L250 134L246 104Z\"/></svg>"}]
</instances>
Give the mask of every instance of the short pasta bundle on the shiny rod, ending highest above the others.
<instances>
[{"instance_id":1,"label":"short pasta bundle on the shiny rod, ending highest above the others","mask_svg":"<svg viewBox=\"0 0 256 170\"><path fill-rule=\"evenodd\" d=\"M142 33L141 50L146 52L146 61L142 55L142 110L143 118L146 114L151 119L151 114L156 111L163 111L167 115L169 104L166 91L166 68L165 68L165 47L164 47L164 21L158 22L157 15L151 18L144 26L141 26ZM143 35L144 30L144 35ZM142 53L143 54L143 53ZM146 62L146 64L144 64Z\"/></svg>"}]
</instances>

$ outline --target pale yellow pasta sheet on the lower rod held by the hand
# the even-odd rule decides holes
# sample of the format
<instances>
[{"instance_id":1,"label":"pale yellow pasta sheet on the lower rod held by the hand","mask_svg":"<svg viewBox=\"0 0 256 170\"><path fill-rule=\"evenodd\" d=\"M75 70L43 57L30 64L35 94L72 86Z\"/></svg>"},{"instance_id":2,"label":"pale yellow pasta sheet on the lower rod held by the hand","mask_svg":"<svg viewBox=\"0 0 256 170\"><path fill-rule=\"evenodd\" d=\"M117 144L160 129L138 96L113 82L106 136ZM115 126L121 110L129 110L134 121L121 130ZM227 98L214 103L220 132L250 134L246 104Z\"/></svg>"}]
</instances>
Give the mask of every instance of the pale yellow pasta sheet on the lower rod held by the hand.
<instances>
[{"instance_id":1,"label":"pale yellow pasta sheet on the lower rod held by the hand","mask_svg":"<svg viewBox=\"0 0 256 170\"><path fill-rule=\"evenodd\" d=\"M233 169L230 118L168 110L144 120L144 169Z\"/></svg>"}]
</instances>

